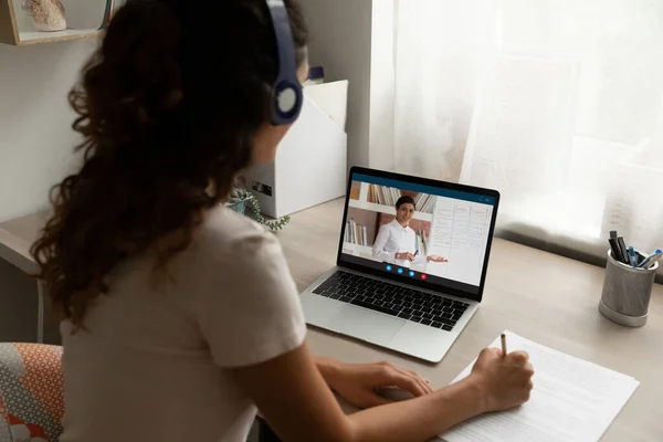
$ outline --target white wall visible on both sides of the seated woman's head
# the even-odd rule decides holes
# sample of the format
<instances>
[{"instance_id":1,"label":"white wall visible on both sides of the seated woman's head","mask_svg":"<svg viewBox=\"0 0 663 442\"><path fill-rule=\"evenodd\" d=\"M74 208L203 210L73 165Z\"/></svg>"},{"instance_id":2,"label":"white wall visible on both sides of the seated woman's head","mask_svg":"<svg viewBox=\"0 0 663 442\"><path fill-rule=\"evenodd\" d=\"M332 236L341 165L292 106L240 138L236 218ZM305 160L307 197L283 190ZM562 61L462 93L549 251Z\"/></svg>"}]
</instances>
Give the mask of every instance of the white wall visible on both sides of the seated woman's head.
<instances>
[{"instance_id":1,"label":"white wall visible on both sides of the seated woman's head","mask_svg":"<svg viewBox=\"0 0 663 442\"><path fill-rule=\"evenodd\" d=\"M325 66L328 81L349 80L348 165L393 168L393 0L302 3L311 63ZM95 45L0 44L0 222L45 207L49 188L73 165L66 93Z\"/></svg>"}]
</instances>

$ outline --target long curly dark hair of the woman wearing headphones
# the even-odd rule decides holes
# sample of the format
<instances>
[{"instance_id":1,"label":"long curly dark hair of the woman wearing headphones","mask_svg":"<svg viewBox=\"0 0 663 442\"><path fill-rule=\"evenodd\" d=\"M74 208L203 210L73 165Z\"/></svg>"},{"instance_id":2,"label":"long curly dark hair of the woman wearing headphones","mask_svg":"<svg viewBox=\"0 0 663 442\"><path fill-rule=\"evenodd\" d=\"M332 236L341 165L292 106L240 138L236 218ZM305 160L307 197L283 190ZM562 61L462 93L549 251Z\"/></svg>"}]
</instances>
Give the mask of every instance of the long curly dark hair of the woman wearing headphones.
<instances>
[{"instance_id":1,"label":"long curly dark hair of the woman wearing headphones","mask_svg":"<svg viewBox=\"0 0 663 442\"><path fill-rule=\"evenodd\" d=\"M297 50L307 29L285 0ZM69 99L83 165L51 190L31 253L59 319L84 327L108 273L155 252L155 271L221 202L271 116L276 39L265 0L129 0Z\"/></svg>"}]
</instances>

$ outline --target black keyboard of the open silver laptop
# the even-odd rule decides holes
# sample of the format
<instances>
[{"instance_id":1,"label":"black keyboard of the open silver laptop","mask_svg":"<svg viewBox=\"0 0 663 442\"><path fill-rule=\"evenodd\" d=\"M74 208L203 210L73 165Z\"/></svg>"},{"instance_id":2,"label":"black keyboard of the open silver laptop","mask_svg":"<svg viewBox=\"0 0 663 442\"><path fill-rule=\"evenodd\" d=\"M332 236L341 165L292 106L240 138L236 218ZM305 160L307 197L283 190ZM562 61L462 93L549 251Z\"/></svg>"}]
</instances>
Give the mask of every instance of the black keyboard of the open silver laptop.
<instances>
[{"instance_id":1,"label":"black keyboard of the open silver laptop","mask_svg":"<svg viewBox=\"0 0 663 442\"><path fill-rule=\"evenodd\" d=\"M413 288L336 272L313 293L451 332L470 304Z\"/></svg>"}]
</instances>

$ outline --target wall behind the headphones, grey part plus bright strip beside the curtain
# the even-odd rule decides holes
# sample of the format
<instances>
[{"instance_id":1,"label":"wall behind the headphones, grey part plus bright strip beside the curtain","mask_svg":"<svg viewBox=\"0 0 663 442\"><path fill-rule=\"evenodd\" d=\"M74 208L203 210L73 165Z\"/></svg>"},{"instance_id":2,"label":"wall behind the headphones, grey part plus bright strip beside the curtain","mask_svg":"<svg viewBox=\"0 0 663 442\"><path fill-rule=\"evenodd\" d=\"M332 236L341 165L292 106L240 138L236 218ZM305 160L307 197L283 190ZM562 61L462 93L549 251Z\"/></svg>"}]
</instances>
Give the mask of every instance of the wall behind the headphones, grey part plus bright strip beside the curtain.
<instances>
[{"instance_id":1,"label":"wall behind the headphones, grey part plus bright strip beside the curtain","mask_svg":"<svg viewBox=\"0 0 663 442\"><path fill-rule=\"evenodd\" d=\"M348 165L394 169L394 0L302 0L312 65L349 80Z\"/></svg>"}]
</instances>

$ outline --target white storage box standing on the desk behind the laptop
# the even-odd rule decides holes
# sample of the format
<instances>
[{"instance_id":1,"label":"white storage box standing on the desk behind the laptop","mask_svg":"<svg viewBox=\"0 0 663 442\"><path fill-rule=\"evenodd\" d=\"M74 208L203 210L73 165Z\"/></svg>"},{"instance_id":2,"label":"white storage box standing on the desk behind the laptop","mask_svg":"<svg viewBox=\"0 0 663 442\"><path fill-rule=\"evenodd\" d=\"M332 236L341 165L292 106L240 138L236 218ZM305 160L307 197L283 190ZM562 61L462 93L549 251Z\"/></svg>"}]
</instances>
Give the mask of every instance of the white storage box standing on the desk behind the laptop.
<instances>
[{"instance_id":1,"label":"white storage box standing on the desk behind the laptop","mask_svg":"<svg viewBox=\"0 0 663 442\"><path fill-rule=\"evenodd\" d=\"M265 214L278 218L345 194L347 96L347 81L305 86L302 114L274 164L244 172Z\"/></svg>"}]
</instances>

